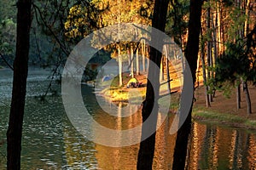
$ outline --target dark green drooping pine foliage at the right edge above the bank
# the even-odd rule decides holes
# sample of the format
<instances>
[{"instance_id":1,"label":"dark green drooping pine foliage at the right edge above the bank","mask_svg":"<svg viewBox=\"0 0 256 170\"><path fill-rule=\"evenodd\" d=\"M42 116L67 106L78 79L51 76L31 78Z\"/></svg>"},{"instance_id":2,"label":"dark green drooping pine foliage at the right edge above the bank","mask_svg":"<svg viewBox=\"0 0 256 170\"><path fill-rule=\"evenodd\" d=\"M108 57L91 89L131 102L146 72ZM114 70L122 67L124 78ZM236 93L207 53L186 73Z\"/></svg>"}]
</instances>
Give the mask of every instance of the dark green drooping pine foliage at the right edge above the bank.
<instances>
[{"instance_id":1,"label":"dark green drooping pine foliage at the right edge above the bank","mask_svg":"<svg viewBox=\"0 0 256 170\"><path fill-rule=\"evenodd\" d=\"M229 42L222 57L217 59L215 77L211 81L211 86L218 90L224 90L224 94L229 96L230 89L243 82L256 82L255 48L253 40L248 43L244 40Z\"/></svg>"}]
</instances>

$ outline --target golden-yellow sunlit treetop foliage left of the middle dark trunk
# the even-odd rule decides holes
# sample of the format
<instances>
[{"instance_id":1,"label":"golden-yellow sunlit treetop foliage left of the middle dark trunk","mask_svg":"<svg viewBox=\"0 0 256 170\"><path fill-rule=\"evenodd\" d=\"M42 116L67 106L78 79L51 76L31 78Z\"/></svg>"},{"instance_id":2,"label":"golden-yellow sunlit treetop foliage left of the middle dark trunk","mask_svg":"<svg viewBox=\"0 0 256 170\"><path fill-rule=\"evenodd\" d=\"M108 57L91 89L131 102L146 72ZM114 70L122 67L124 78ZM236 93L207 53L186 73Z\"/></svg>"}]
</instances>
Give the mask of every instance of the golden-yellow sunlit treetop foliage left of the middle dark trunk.
<instances>
[{"instance_id":1,"label":"golden-yellow sunlit treetop foliage left of the middle dark trunk","mask_svg":"<svg viewBox=\"0 0 256 170\"><path fill-rule=\"evenodd\" d=\"M65 36L68 41L75 42L86 37L92 31L112 26L119 23L137 23L151 25L149 19L152 15L153 3L148 0L92 0L90 3L76 3L70 8L65 22ZM119 28L127 39L134 37L134 32ZM107 33L106 33L107 34ZM113 37L112 33L106 37ZM129 38L128 38L129 37ZM92 45L99 48L102 37L93 37ZM113 43L104 49L111 53L113 58L118 56L118 48L122 58L128 59L127 48L131 47L131 42ZM134 45L135 47L136 45Z\"/></svg>"}]
</instances>

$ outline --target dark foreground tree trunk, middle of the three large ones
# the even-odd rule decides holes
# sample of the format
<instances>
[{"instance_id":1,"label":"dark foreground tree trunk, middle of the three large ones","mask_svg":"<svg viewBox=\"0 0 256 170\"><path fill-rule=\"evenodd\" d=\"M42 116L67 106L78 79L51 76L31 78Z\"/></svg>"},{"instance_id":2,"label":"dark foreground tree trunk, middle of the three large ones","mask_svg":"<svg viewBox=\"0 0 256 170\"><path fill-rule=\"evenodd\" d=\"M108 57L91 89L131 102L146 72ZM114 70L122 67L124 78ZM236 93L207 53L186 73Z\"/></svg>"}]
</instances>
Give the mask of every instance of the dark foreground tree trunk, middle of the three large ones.
<instances>
[{"instance_id":1,"label":"dark foreground tree trunk, middle of the three large ones","mask_svg":"<svg viewBox=\"0 0 256 170\"><path fill-rule=\"evenodd\" d=\"M166 14L169 0L155 1L154 2L154 14L152 20L152 26L160 31L165 31L166 27ZM152 35L151 43L154 43L157 47L163 48L163 40L160 40L156 35ZM154 62L157 66L160 67L161 62L161 53L150 47L149 59ZM149 64L150 65L150 64ZM153 114L154 122L149 126L146 126L143 123L142 129L142 139L143 135L147 133L148 128L154 128L154 133L148 137L148 139L143 140L140 143L140 149L137 156L137 169L138 170L150 170L152 169L153 158L154 158L154 144L155 144L155 128L157 123L157 114L158 114L158 95L160 88L160 70L155 69L153 65L148 68L148 81L147 83L147 92L146 99L143 102L143 122L145 122L149 115ZM154 87L152 86L154 84ZM154 93L155 91L155 93ZM156 94L157 96L154 96ZM156 105L157 109L154 109L153 106ZM153 111L154 109L154 111ZM156 110L156 111L155 111Z\"/></svg>"}]
</instances>

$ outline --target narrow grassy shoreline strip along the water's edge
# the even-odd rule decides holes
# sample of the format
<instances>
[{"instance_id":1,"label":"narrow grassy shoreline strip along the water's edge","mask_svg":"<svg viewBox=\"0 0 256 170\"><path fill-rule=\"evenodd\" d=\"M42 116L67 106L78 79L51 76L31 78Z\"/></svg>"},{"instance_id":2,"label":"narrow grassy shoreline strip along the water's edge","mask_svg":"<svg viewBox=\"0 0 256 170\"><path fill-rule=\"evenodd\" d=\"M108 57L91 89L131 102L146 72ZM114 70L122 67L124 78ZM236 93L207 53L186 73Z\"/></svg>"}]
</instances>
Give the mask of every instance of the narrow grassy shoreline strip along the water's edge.
<instances>
[{"instance_id":1,"label":"narrow grassy shoreline strip along the water's edge","mask_svg":"<svg viewBox=\"0 0 256 170\"><path fill-rule=\"evenodd\" d=\"M97 95L102 95L103 98L109 99L112 102L129 102L129 100L127 99L127 91L129 91L129 89L124 90L123 88L115 88L103 90L101 93ZM143 88L140 89L140 91L142 91L143 94ZM174 94L172 98L177 99L177 95L178 94ZM145 96L141 95L141 97L143 97L144 99ZM173 102L173 105L178 105L177 100L176 102ZM232 112L229 113L226 111L220 111L220 109L219 111L216 110L218 110L218 108L207 108L195 102L193 105L192 120L225 127L242 128L249 131L256 130L256 119L254 116L255 114L241 115Z\"/></svg>"}]
</instances>

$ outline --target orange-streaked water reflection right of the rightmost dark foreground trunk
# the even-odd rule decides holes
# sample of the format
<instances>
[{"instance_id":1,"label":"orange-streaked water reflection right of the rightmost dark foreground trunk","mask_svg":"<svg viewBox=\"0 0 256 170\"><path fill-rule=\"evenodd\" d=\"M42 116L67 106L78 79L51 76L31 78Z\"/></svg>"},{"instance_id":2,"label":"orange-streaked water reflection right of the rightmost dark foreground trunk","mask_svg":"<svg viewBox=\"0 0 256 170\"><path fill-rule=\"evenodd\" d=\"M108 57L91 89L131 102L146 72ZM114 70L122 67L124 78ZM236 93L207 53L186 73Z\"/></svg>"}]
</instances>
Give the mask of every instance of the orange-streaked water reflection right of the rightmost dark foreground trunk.
<instances>
[{"instance_id":1,"label":"orange-streaked water reflection right of the rightmost dark foreground trunk","mask_svg":"<svg viewBox=\"0 0 256 170\"><path fill-rule=\"evenodd\" d=\"M194 123L189 169L255 169L255 133Z\"/></svg>"}]
</instances>

